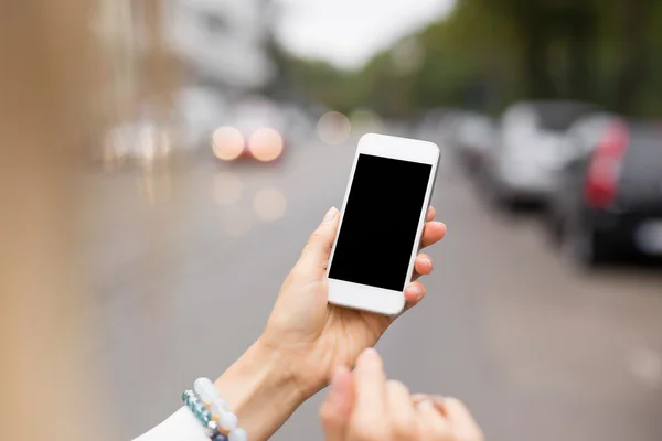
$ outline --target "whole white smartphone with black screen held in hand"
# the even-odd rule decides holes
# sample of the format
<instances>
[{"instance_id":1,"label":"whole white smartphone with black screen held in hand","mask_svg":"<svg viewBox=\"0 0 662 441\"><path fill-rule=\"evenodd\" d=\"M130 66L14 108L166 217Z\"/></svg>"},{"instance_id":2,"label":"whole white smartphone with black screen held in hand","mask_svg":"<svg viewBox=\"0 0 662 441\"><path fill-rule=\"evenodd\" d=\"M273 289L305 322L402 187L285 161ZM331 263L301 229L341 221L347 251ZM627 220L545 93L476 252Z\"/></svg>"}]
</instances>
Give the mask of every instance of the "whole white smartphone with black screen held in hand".
<instances>
[{"instance_id":1,"label":"whole white smartphone with black screen held in hand","mask_svg":"<svg viewBox=\"0 0 662 441\"><path fill-rule=\"evenodd\" d=\"M403 311L438 163L431 142L361 138L327 270L330 303L386 315Z\"/></svg>"}]
</instances>

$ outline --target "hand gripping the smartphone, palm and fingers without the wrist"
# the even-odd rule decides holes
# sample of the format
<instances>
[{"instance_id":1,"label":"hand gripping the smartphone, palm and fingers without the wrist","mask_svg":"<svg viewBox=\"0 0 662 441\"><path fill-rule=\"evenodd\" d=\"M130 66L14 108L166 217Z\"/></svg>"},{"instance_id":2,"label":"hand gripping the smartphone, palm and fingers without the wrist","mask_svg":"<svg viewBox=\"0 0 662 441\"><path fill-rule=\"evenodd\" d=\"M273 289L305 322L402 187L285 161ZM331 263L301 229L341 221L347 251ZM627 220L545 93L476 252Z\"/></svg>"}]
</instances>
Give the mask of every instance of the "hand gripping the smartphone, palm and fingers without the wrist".
<instances>
[{"instance_id":1,"label":"hand gripping the smartphone, palm and fingers without the wrist","mask_svg":"<svg viewBox=\"0 0 662 441\"><path fill-rule=\"evenodd\" d=\"M337 366L353 366L359 354L377 343L394 320L328 303L327 265L339 217L338 209L331 208L310 236L299 261L280 288L258 342L287 361L287 368L302 399L322 389ZM446 234L446 226L434 222L434 217L435 208L430 207L421 248L439 241ZM378 222L375 216L375 223ZM365 256L365 259L370 258L370 255ZM419 254L414 281L405 289L407 308L424 298L425 286L416 279L431 270L429 256Z\"/></svg>"}]
</instances>

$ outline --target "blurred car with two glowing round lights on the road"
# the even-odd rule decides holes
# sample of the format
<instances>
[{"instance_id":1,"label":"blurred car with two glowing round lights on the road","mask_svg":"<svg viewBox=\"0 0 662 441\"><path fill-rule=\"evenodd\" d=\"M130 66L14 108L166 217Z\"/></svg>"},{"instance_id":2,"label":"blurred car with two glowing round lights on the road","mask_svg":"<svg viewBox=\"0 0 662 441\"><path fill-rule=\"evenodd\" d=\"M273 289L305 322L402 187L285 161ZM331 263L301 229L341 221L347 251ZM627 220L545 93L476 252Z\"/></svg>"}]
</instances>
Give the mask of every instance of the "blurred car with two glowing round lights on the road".
<instances>
[{"instance_id":1,"label":"blurred car with two glowing round lights on the road","mask_svg":"<svg viewBox=\"0 0 662 441\"><path fill-rule=\"evenodd\" d=\"M228 123L212 135L212 152L222 162L242 159L260 163L281 158L289 144L287 114L275 103L250 98L233 106Z\"/></svg>"}]
</instances>

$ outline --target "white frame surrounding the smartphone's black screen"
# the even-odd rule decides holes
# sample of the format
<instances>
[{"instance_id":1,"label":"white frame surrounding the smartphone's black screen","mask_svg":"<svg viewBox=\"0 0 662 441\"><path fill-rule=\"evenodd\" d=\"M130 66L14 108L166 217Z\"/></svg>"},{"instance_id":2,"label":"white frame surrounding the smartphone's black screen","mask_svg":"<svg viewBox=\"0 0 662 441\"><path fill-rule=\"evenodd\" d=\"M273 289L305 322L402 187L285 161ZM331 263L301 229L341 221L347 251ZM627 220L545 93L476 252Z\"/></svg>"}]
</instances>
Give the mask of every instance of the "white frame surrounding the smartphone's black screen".
<instances>
[{"instance_id":1,"label":"white frame surrounding the smartphone's black screen","mask_svg":"<svg viewBox=\"0 0 662 441\"><path fill-rule=\"evenodd\" d=\"M439 148L428 141L419 141L407 138L398 138L386 135L367 133L359 140L359 146L354 154L354 161L352 163L352 170L350 172L350 180L345 190L342 208L340 211L339 232L335 235L333 247L331 249L331 256L329 257L329 265L327 268L327 277L329 270L333 263L333 255L335 251L335 244L340 236L340 225L344 217L345 206L348 197L354 182L354 172L356 170L356 163L360 154L372 154L375 157L398 159L403 161L419 162L424 164L430 164L431 171L428 178L428 184L424 198L423 206L420 207L420 215L418 219L418 227L416 232L416 240L412 244L412 254L409 257L409 266L407 269L406 282L412 280L412 273L414 271L414 260L418 254L420 246L420 237L423 234L423 227L425 225L425 217L427 214L428 206L430 204L435 178L437 175L437 166L439 164ZM405 294L404 291L394 291L383 288L371 287L367 284L348 282L339 279L331 279L328 277L329 282L329 302L332 304L365 310L385 315L399 314L405 308Z\"/></svg>"}]
</instances>

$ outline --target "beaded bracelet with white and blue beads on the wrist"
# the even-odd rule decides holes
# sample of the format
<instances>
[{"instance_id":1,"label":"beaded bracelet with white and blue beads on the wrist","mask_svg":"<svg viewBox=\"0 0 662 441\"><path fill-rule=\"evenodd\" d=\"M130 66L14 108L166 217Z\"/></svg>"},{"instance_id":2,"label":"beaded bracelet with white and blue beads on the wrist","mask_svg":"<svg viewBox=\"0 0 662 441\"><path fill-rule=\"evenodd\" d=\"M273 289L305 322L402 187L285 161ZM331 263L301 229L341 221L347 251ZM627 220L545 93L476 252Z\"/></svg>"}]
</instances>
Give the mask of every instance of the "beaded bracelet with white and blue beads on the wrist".
<instances>
[{"instance_id":1,"label":"beaded bracelet with white and blue beads on the wrist","mask_svg":"<svg viewBox=\"0 0 662 441\"><path fill-rule=\"evenodd\" d=\"M182 394L182 401L202 422L212 441L246 441L246 431L237 428L237 416L227 409L209 378L197 378L193 390Z\"/></svg>"}]
</instances>

